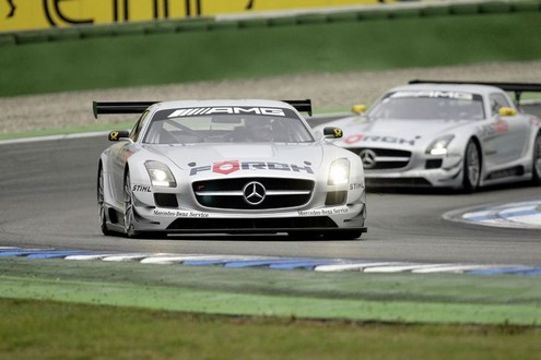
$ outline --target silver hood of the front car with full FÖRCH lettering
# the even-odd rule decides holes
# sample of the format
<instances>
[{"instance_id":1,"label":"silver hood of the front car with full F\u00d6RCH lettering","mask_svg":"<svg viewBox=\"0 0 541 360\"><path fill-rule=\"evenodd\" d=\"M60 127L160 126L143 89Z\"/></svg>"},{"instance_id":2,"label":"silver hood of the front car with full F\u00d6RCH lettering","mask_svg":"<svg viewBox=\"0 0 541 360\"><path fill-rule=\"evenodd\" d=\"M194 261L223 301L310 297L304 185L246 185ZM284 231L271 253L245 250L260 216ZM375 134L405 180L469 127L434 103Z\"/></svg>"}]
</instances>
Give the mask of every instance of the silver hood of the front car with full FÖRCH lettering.
<instances>
[{"instance_id":1,"label":"silver hood of the front car with full F\u00d6RCH lettering","mask_svg":"<svg viewBox=\"0 0 541 360\"><path fill-rule=\"evenodd\" d=\"M167 157L190 176L209 171L230 175L240 170L315 172L324 159L322 146L309 144L193 144L186 146L155 146L153 149Z\"/></svg>"}]
</instances>

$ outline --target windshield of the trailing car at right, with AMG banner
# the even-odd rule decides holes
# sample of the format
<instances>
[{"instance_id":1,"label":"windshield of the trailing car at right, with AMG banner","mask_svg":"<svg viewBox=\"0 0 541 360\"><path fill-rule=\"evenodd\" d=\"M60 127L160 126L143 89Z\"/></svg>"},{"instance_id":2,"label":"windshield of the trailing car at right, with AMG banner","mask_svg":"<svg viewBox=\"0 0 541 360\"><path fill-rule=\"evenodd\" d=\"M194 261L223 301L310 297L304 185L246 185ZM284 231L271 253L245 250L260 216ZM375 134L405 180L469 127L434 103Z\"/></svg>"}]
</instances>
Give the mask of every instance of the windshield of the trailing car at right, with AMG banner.
<instances>
[{"instance_id":1,"label":"windshield of the trailing car at right, with AMG banner","mask_svg":"<svg viewBox=\"0 0 541 360\"><path fill-rule=\"evenodd\" d=\"M482 120L483 99L466 92L400 91L374 105L368 116L403 120Z\"/></svg>"}]
</instances>

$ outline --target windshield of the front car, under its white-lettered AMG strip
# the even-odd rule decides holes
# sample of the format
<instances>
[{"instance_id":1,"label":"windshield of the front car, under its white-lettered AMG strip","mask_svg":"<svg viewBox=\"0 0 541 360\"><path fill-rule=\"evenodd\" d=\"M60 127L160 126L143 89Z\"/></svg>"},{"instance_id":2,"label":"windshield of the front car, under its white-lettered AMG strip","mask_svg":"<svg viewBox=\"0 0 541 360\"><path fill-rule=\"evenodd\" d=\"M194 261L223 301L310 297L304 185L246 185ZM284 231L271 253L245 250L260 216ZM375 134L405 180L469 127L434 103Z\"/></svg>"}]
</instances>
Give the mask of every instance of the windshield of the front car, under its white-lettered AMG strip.
<instances>
[{"instance_id":1,"label":"windshield of the front car, under its white-lettered AMG strip","mask_svg":"<svg viewBox=\"0 0 541 360\"><path fill-rule=\"evenodd\" d=\"M217 110L213 112L209 109L216 108L180 108L157 111L151 120L143 143L304 143L314 141L310 131L291 109L264 108L268 110L264 115L249 113L250 110L259 108L220 108L224 112Z\"/></svg>"}]
</instances>

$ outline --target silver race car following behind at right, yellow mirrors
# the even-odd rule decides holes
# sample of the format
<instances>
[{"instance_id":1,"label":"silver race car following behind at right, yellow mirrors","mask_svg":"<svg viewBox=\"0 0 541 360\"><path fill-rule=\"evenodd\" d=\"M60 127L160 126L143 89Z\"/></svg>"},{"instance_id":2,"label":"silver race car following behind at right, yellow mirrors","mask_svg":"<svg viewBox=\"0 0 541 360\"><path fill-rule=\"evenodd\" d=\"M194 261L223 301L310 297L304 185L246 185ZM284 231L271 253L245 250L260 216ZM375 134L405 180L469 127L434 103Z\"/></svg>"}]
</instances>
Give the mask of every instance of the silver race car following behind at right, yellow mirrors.
<instances>
[{"instance_id":1,"label":"silver race car following behind at right, yellow mirrors","mask_svg":"<svg viewBox=\"0 0 541 360\"><path fill-rule=\"evenodd\" d=\"M363 160L367 187L539 185L541 122L507 92L519 105L541 84L412 81L329 124L344 131L334 143Z\"/></svg>"}]
</instances>

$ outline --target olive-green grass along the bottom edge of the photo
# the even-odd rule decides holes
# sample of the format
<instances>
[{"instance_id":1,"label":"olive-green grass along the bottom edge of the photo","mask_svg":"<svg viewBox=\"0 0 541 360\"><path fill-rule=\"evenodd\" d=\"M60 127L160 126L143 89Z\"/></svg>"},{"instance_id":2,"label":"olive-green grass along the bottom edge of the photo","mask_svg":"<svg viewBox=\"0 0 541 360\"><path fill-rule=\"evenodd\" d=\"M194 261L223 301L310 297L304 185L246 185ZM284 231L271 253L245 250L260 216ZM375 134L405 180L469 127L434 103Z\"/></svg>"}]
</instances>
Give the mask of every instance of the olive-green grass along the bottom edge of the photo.
<instances>
[{"instance_id":1,"label":"olive-green grass along the bottom edge of the photo","mask_svg":"<svg viewBox=\"0 0 541 360\"><path fill-rule=\"evenodd\" d=\"M210 316L0 299L2 359L536 359L541 328Z\"/></svg>"}]
</instances>

